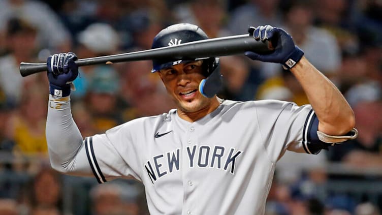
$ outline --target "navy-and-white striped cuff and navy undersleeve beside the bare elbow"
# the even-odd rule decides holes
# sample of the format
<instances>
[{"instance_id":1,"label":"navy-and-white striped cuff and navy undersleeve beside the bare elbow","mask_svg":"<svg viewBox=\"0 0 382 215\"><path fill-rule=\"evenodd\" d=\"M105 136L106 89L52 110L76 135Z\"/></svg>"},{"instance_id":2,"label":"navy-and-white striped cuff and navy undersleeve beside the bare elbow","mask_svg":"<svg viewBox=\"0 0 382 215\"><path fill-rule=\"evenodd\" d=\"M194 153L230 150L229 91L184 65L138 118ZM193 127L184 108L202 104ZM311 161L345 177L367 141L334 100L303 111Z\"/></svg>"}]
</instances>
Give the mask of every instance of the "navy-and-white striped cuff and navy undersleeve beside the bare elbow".
<instances>
[{"instance_id":1,"label":"navy-and-white striped cuff and navy undersleeve beside the bare elbow","mask_svg":"<svg viewBox=\"0 0 382 215\"><path fill-rule=\"evenodd\" d=\"M302 146L308 154L317 155L321 149L326 148L325 143L321 141L317 135L318 129L319 118L315 115L314 110L310 110L302 132Z\"/></svg>"}]
</instances>

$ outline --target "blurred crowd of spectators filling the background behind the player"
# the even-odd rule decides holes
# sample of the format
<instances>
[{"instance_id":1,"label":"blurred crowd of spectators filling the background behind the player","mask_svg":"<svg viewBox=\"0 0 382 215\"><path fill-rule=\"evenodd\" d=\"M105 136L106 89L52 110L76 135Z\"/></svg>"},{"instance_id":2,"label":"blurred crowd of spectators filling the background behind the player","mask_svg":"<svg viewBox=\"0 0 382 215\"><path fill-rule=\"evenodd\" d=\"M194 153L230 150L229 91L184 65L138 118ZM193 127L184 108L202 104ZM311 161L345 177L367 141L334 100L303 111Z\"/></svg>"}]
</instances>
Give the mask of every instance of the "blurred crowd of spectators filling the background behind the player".
<instances>
[{"instance_id":1,"label":"blurred crowd of spectators filling the background behind the player","mask_svg":"<svg viewBox=\"0 0 382 215\"><path fill-rule=\"evenodd\" d=\"M47 77L22 78L19 64L45 62L59 52L87 58L150 49L162 28L186 22L210 38L246 34L248 26L286 29L354 109L356 140L316 156L285 153L266 214L380 215L381 14L379 0L1 0L0 214L148 214L144 189L134 180L98 186L95 179L50 168ZM81 67L71 99L83 137L174 108L150 71L149 61ZM235 55L220 57L220 71L220 98L308 104L297 80L280 65Z\"/></svg>"}]
</instances>

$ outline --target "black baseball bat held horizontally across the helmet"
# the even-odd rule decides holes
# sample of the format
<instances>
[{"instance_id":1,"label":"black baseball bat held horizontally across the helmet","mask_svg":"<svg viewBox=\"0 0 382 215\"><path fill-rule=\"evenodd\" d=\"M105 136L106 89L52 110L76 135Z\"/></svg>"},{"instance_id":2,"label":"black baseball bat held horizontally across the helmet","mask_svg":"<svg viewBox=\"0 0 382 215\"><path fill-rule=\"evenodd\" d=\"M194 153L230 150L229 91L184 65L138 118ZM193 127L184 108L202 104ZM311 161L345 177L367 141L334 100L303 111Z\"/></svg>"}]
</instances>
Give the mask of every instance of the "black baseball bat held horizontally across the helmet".
<instances>
[{"instance_id":1,"label":"black baseball bat held horizontally across the helmet","mask_svg":"<svg viewBox=\"0 0 382 215\"><path fill-rule=\"evenodd\" d=\"M257 53L271 52L268 43L256 41L249 34L229 37L212 38L183 43L176 46L148 49L122 54L106 55L100 57L90 57L78 59L75 63L78 66L111 64L134 60L163 60L163 59L193 59L199 57L216 57L235 54L243 54L245 51ZM20 64L20 74L22 77L46 71L46 63L24 63Z\"/></svg>"}]
</instances>

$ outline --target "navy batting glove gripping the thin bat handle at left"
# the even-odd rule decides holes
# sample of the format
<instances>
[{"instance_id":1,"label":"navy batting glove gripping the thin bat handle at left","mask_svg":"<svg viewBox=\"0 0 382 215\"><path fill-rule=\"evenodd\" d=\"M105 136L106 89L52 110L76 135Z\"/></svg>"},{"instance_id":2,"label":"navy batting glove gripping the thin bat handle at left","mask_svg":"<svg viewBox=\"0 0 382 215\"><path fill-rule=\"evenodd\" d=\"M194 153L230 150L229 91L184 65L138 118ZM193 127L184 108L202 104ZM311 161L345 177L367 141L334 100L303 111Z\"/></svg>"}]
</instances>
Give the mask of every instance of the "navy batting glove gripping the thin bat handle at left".
<instances>
[{"instance_id":1,"label":"navy batting glove gripping the thin bat handle at left","mask_svg":"<svg viewBox=\"0 0 382 215\"><path fill-rule=\"evenodd\" d=\"M71 83L78 75L75 60L77 55L73 52L53 54L48 57L46 65L51 95L56 97L70 95Z\"/></svg>"}]
</instances>

